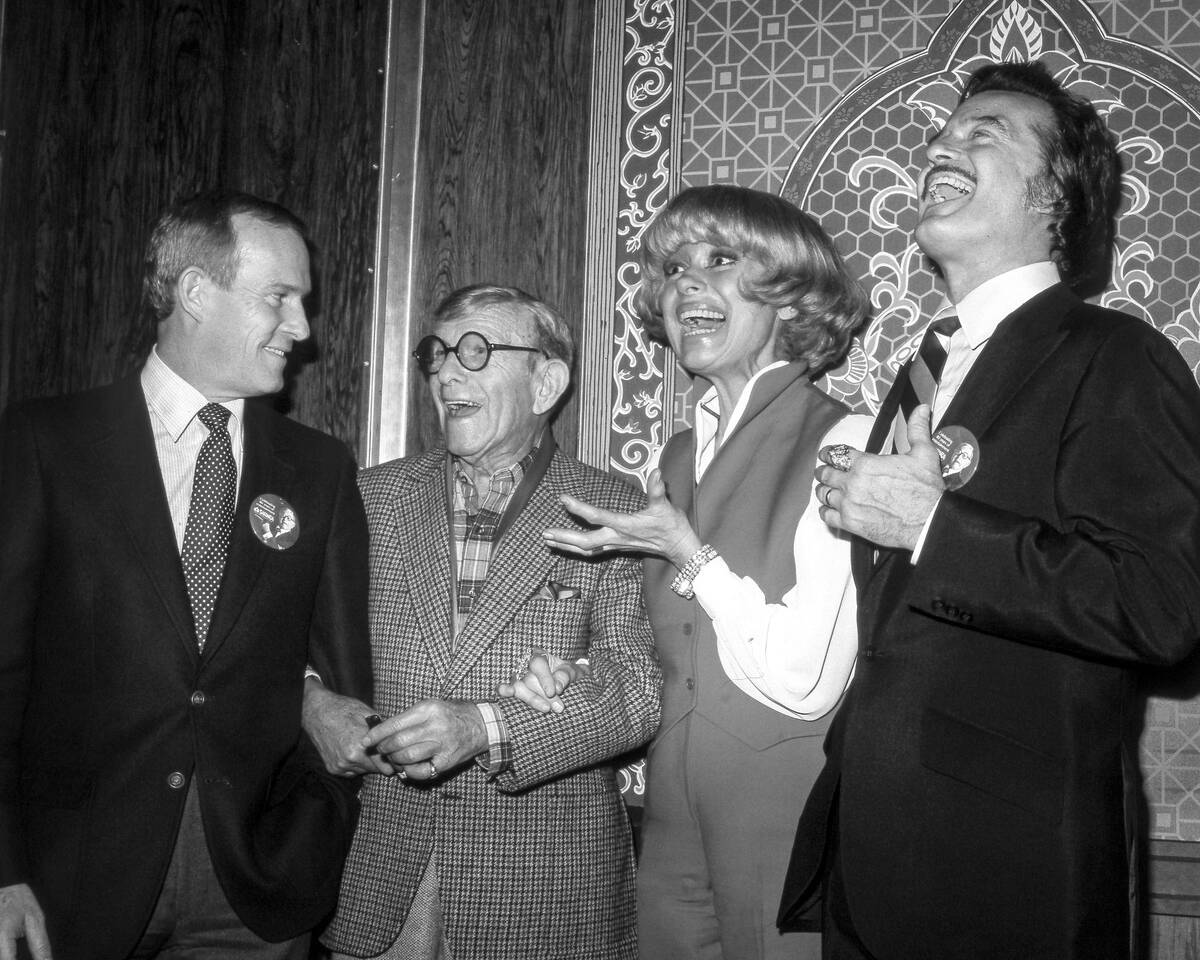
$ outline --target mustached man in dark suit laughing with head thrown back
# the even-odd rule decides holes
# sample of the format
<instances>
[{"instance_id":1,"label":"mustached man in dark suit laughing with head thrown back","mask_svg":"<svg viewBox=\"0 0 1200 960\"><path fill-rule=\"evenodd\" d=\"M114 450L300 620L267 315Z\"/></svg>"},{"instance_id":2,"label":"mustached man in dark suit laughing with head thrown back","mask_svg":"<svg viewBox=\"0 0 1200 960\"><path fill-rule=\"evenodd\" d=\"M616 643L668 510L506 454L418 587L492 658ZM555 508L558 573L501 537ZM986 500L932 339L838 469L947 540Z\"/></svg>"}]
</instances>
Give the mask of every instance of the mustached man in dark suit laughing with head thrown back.
<instances>
[{"instance_id":1,"label":"mustached man in dark suit laughing with head thrown back","mask_svg":"<svg viewBox=\"0 0 1200 960\"><path fill-rule=\"evenodd\" d=\"M923 361L932 437L917 406L905 454L822 452L822 516L862 538L859 659L781 925L824 888L832 958L1127 956L1135 668L1200 637L1200 391L1150 324L1079 296L1120 199L1087 101L991 65L926 152L917 242L959 323L925 337L948 346L940 384Z\"/></svg>"}]
</instances>

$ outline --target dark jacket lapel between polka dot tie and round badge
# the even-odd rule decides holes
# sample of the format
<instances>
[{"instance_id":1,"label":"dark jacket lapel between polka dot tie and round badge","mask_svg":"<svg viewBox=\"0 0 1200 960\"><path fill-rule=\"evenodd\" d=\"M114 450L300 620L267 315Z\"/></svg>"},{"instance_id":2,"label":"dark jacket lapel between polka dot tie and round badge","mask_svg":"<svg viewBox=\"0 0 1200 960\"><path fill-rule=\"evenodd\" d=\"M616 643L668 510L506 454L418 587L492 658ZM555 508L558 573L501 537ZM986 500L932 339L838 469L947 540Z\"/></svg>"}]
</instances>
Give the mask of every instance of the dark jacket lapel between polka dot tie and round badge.
<instances>
[{"instance_id":1,"label":"dark jacket lapel between polka dot tie and round badge","mask_svg":"<svg viewBox=\"0 0 1200 960\"><path fill-rule=\"evenodd\" d=\"M204 656L212 656L238 623L246 601L254 593L254 586L266 558L266 550L250 527L250 504L260 493L283 496L292 488L295 469L288 451L280 445L277 432L270 424L271 414L259 407L258 401L247 400L244 408L241 481L238 485L238 503L233 514L233 533L229 535L229 557L221 592L212 610L212 623L204 643ZM304 518L300 518L304 522Z\"/></svg>"}]
</instances>

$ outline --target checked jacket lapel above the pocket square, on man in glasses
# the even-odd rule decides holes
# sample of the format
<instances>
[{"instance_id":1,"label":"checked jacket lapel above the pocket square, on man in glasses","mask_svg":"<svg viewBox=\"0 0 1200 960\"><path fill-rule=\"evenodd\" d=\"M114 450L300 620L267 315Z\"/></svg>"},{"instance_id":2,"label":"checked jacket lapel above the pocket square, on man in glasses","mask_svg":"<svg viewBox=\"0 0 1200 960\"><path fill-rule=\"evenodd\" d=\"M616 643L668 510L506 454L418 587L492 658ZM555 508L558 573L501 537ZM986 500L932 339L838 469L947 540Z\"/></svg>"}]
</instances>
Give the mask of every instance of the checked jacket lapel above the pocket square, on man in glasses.
<instances>
[{"instance_id":1,"label":"checked jacket lapel above the pocket square, on man in glasses","mask_svg":"<svg viewBox=\"0 0 1200 960\"><path fill-rule=\"evenodd\" d=\"M529 503L493 552L487 565L487 581L458 634L454 659L443 683L443 696L451 695L517 611L550 578L554 557L542 544L541 532L566 521L558 503L562 462L562 455L556 454L546 476L534 487Z\"/></svg>"}]
</instances>

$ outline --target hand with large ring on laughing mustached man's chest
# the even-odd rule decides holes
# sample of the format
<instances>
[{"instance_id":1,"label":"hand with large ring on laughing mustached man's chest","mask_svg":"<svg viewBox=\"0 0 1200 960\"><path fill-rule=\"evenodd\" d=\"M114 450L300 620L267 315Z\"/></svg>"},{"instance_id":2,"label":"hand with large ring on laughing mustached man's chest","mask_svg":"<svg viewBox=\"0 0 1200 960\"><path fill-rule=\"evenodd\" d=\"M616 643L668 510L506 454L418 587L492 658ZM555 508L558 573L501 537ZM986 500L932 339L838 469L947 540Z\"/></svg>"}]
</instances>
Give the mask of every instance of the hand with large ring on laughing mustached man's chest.
<instances>
[{"instance_id":1,"label":"hand with large ring on laughing mustached man's chest","mask_svg":"<svg viewBox=\"0 0 1200 960\"><path fill-rule=\"evenodd\" d=\"M920 404L908 420L907 454L876 456L827 446L817 467L821 518L836 530L881 547L912 550L946 491L942 464L930 437L930 410Z\"/></svg>"}]
</instances>

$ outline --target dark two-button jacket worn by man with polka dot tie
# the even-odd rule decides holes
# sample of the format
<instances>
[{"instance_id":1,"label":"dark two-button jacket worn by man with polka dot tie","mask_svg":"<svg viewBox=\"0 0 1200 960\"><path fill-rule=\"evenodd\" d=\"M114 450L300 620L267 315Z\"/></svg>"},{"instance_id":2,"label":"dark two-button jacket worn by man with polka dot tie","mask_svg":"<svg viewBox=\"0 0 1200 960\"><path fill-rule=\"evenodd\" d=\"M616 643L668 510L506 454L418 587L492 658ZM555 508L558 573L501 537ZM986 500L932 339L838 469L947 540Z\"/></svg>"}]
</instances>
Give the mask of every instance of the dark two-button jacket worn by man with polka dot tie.
<instances>
[{"instance_id":1,"label":"dark two-button jacket worn by man with polka dot tie","mask_svg":"<svg viewBox=\"0 0 1200 960\"><path fill-rule=\"evenodd\" d=\"M260 493L295 508L289 550L253 536ZM32 886L55 955L132 948L193 779L247 926L316 924L355 799L300 732L305 664L370 696L366 524L341 444L246 404L203 655L137 378L6 413L0 535L0 884Z\"/></svg>"}]
</instances>

